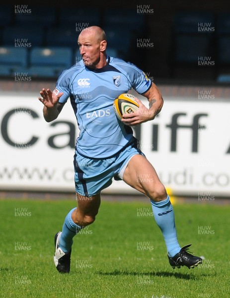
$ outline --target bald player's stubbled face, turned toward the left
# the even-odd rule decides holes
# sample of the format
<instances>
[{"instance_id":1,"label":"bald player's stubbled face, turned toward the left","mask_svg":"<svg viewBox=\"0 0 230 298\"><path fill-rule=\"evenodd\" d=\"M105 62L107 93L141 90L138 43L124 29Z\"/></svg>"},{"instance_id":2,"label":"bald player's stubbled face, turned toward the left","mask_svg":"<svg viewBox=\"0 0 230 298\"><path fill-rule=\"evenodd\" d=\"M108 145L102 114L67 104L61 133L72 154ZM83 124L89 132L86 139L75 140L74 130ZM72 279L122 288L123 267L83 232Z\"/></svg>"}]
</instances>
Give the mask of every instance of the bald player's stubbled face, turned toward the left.
<instances>
[{"instance_id":1,"label":"bald player's stubbled face, turned toward the left","mask_svg":"<svg viewBox=\"0 0 230 298\"><path fill-rule=\"evenodd\" d=\"M95 68L100 61L100 42L98 38L92 31L82 31L77 43L84 65Z\"/></svg>"}]
</instances>

